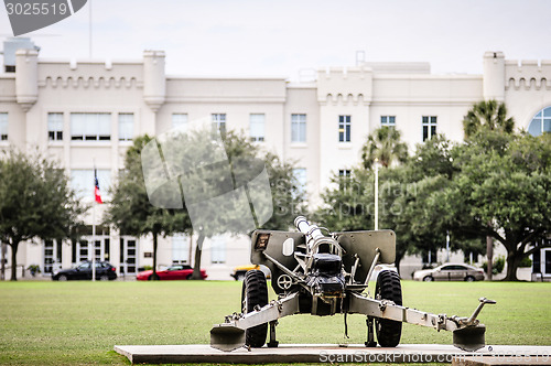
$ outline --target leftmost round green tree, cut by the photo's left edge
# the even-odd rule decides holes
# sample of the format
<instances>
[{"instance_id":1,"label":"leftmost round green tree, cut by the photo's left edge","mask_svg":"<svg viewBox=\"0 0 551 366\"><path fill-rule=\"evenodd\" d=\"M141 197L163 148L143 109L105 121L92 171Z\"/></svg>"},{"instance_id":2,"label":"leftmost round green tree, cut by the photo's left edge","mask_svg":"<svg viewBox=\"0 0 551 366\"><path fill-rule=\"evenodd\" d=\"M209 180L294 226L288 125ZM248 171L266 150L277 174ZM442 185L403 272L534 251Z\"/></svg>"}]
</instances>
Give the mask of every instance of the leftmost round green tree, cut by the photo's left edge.
<instances>
[{"instance_id":1,"label":"leftmost round green tree, cut by the photo's left edge","mask_svg":"<svg viewBox=\"0 0 551 366\"><path fill-rule=\"evenodd\" d=\"M9 149L0 159L0 241L11 247L11 280L17 281L20 243L63 239L82 225L84 207L61 165L39 151ZM90 182L91 186L93 182Z\"/></svg>"}]
</instances>

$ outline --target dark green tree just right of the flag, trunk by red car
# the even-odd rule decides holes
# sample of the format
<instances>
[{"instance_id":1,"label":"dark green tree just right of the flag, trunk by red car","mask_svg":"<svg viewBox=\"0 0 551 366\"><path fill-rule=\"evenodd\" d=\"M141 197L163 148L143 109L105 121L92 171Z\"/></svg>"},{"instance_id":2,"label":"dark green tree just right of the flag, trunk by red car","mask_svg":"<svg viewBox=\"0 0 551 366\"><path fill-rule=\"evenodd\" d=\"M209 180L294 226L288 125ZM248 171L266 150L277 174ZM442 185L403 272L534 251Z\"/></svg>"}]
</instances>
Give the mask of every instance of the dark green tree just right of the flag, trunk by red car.
<instances>
[{"instance_id":1,"label":"dark green tree just right of the flag, trunk by red car","mask_svg":"<svg viewBox=\"0 0 551 366\"><path fill-rule=\"evenodd\" d=\"M151 204L143 180L141 152L152 140L142 136L127 150L125 171L112 189L112 200L107 208L104 222L117 227L120 233L134 236L153 236L153 274L156 276L156 251L159 236L175 233L190 233L192 225L185 209L166 209ZM171 194L164 192L164 194ZM181 200L181 198L180 198Z\"/></svg>"}]
</instances>

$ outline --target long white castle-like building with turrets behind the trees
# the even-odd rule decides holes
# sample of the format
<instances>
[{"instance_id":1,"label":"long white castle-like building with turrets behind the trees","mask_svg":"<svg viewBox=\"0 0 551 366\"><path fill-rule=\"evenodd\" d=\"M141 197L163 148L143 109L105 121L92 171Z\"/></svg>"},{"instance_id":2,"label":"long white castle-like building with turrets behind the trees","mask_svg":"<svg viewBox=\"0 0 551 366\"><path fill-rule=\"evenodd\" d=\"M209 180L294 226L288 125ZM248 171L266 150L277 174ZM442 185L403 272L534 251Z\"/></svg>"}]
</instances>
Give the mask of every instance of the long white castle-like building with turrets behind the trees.
<instances>
[{"instance_id":1,"label":"long white castle-like building with turrets behind the trees","mask_svg":"<svg viewBox=\"0 0 551 366\"><path fill-rule=\"evenodd\" d=\"M433 75L428 63L364 63L318 71L307 83L165 75L161 51L145 51L134 61L71 63L20 49L12 58L4 55L0 74L0 149L47 150L85 192L83 200L91 200L94 163L105 193L123 168L133 137L205 117L242 129L267 150L299 161L296 173L314 202L333 172L346 173L359 162L367 134L381 125L399 129L411 149L436 132L460 141L471 106L494 98L507 104L517 128L551 131L551 61L509 61L501 52L484 54L482 75ZM152 265L150 238L98 230L98 259L121 273ZM22 245L18 262L50 272L53 266L88 258L90 243L86 236L76 245ZM541 258L549 257L542 252ZM193 262L190 238L161 240L160 265L190 258ZM247 238L205 241L203 267L210 278L229 279L235 266L248 261ZM551 262L541 266L551 272Z\"/></svg>"}]
</instances>

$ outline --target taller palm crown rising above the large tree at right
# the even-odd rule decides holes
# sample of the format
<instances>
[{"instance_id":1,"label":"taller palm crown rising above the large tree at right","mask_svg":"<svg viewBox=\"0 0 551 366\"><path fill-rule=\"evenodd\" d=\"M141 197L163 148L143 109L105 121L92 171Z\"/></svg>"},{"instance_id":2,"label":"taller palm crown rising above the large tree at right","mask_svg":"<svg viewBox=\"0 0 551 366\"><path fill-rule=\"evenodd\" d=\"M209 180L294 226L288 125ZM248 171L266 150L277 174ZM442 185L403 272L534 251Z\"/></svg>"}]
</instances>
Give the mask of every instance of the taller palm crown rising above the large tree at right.
<instances>
[{"instance_id":1,"label":"taller palm crown rising above the large tree at right","mask_svg":"<svg viewBox=\"0 0 551 366\"><path fill-rule=\"evenodd\" d=\"M505 133L512 132L515 119L512 117L507 118L505 103L494 99L479 101L463 117L465 138L473 137L483 128Z\"/></svg>"}]
</instances>

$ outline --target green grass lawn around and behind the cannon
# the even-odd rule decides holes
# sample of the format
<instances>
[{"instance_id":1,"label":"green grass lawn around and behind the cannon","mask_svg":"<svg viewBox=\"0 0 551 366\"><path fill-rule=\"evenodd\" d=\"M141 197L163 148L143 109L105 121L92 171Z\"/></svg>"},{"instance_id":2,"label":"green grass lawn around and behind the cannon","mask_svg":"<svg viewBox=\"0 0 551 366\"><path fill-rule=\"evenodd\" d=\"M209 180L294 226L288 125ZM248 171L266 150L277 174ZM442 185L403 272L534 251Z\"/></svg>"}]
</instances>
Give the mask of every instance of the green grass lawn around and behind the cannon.
<instances>
[{"instance_id":1,"label":"green grass lawn around and behind the cannon","mask_svg":"<svg viewBox=\"0 0 551 366\"><path fill-rule=\"evenodd\" d=\"M128 364L116 344L207 344L209 330L239 309L240 282L0 282L0 364ZM551 344L551 283L403 281L403 303L479 319L491 344ZM295 315L281 343L364 343L365 317ZM406 324L401 343L451 344L452 334Z\"/></svg>"}]
</instances>

